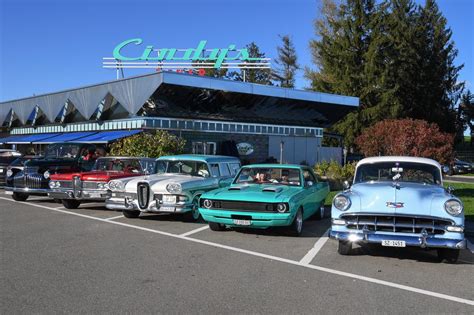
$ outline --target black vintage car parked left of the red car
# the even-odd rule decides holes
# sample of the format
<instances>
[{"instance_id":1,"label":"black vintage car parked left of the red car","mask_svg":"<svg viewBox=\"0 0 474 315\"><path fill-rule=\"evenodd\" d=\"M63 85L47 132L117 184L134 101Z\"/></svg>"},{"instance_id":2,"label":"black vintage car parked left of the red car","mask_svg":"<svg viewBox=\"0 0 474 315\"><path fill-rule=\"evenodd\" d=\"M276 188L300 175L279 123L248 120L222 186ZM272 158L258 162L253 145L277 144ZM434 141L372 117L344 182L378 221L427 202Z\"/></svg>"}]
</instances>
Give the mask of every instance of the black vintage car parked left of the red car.
<instances>
[{"instance_id":1,"label":"black vintage car parked left of the red car","mask_svg":"<svg viewBox=\"0 0 474 315\"><path fill-rule=\"evenodd\" d=\"M47 196L51 174L91 170L97 153L103 155L105 150L87 143L50 144L43 158L26 162L23 170L7 177L5 193L17 201L25 201L30 195Z\"/></svg>"}]
</instances>

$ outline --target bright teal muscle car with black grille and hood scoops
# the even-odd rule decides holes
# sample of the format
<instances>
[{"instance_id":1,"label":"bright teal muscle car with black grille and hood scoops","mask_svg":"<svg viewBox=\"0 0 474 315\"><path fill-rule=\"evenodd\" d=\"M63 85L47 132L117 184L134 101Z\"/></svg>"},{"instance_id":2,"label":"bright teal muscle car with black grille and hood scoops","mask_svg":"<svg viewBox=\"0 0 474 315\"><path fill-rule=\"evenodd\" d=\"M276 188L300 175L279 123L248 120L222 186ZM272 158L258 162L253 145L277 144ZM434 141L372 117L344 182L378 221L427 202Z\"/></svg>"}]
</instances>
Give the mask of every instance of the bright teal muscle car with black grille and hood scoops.
<instances>
[{"instance_id":1,"label":"bright teal muscle car with black grille and hood scoops","mask_svg":"<svg viewBox=\"0 0 474 315\"><path fill-rule=\"evenodd\" d=\"M318 182L309 167L248 165L240 169L230 187L203 194L199 212L213 231L225 226L288 226L298 236L305 219L323 217L328 193L328 184Z\"/></svg>"}]
</instances>

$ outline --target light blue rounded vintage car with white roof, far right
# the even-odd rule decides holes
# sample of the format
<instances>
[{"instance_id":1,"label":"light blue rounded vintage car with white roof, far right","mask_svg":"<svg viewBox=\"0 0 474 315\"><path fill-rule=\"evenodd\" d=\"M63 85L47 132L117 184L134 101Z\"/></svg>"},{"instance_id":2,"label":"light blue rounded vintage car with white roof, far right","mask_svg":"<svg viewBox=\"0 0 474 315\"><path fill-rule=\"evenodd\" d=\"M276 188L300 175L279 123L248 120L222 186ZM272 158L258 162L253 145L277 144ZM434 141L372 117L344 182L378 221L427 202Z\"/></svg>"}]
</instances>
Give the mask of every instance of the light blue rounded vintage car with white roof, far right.
<instances>
[{"instance_id":1,"label":"light blue rounded vintage car with white roof, far right","mask_svg":"<svg viewBox=\"0 0 474 315\"><path fill-rule=\"evenodd\" d=\"M454 263L466 247L463 204L443 188L434 160L366 158L352 187L334 197L330 237L342 255L353 243L375 243L437 249L440 260Z\"/></svg>"}]
</instances>

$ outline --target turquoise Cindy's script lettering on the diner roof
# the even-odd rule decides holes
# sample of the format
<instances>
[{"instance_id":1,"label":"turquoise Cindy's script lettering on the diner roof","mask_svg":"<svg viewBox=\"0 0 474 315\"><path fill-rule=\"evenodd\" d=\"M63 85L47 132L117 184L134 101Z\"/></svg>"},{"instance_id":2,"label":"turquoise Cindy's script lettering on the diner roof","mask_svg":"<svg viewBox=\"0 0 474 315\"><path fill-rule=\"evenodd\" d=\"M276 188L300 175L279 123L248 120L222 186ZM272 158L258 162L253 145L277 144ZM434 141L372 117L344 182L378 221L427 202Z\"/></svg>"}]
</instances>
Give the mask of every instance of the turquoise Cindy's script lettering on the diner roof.
<instances>
[{"instance_id":1,"label":"turquoise Cindy's script lettering on the diner roof","mask_svg":"<svg viewBox=\"0 0 474 315\"><path fill-rule=\"evenodd\" d=\"M127 46L139 46L142 44L141 38L132 38L125 40L114 48L113 57L120 61L207 61L214 63L214 68L220 68L229 61L241 62L267 62L266 58L253 58L249 56L246 48L236 49L234 44L227 48L206 49L206 40L201 40L196 48L176 49L176 48L160 48L155 49L153 46L146 46L141 55L128 56L122 51Z\"/></svg>"}]
</instances>

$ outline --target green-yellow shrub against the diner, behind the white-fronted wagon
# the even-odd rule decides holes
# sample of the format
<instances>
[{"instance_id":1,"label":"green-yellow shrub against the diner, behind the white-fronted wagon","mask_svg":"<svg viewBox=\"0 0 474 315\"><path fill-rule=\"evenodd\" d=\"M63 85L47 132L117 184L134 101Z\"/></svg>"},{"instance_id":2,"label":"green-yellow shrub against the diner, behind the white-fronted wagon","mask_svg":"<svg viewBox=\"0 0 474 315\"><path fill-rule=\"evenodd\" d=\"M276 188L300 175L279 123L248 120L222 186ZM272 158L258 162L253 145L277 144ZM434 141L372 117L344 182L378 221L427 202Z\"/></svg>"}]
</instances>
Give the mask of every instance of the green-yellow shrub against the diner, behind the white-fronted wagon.
<instances>
[{"instance_id":1,"label":"green-yellow shrub against the diner, behind the white-fronted wagon","mask_svg":"<svg viewBox=\"0 0 474 315\"><path fill-rule=\"evenodd\" d=\"M139 133L120 139L110 146L110 154L116 156L141 156L157 158L163 155L180 154L186 141L164 130Z\"/></svg>"}]
</instances>

